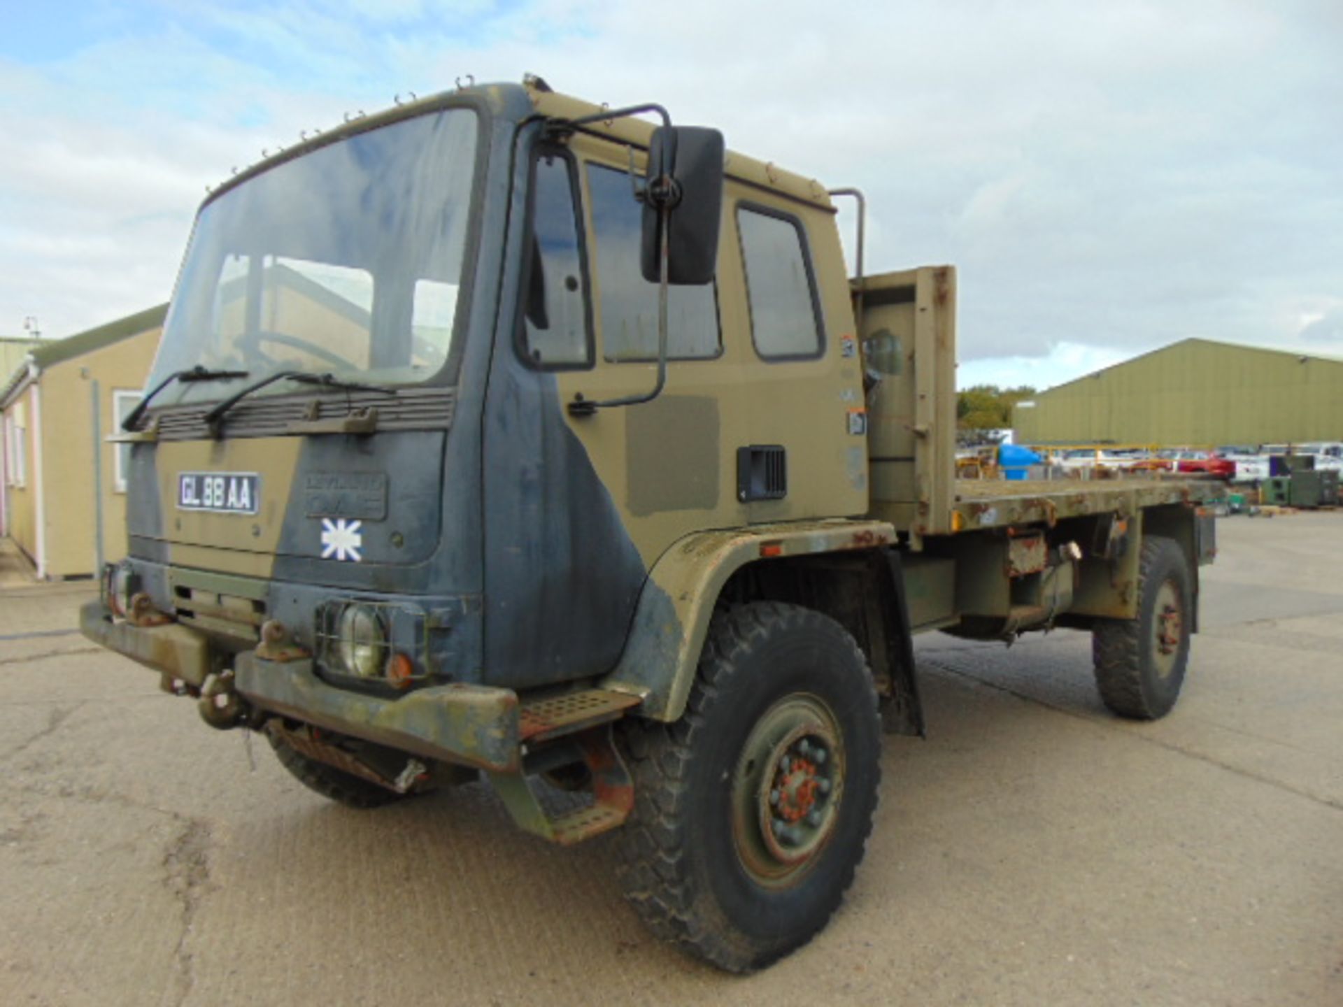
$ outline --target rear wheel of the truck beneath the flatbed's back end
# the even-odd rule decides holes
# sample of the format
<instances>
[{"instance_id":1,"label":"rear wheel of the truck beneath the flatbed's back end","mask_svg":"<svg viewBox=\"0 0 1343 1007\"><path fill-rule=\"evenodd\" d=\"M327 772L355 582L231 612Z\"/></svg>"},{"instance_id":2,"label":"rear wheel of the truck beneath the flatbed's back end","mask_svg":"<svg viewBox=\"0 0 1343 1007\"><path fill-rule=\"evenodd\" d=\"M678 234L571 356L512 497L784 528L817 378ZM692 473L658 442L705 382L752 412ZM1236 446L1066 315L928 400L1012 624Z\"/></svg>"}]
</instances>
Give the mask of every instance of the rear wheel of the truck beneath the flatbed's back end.
<instances>
[{"instance_id":1,"label":"rear wheel of the truck beneath the flatbed's back end","mask_svg":"<svg viewBox=\"0 0 1343 1007\"><path fill-rule=\"evenodd\" d=\"M1120 717L1156 720L1179 698L1189 663L1190 580L1179 542L1148 536L1139 557L1138 618L1101 619L1092 627L1096 686Z\"/></svg>"}]
</instances>

